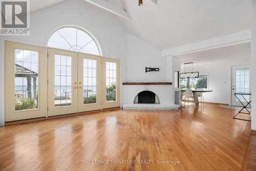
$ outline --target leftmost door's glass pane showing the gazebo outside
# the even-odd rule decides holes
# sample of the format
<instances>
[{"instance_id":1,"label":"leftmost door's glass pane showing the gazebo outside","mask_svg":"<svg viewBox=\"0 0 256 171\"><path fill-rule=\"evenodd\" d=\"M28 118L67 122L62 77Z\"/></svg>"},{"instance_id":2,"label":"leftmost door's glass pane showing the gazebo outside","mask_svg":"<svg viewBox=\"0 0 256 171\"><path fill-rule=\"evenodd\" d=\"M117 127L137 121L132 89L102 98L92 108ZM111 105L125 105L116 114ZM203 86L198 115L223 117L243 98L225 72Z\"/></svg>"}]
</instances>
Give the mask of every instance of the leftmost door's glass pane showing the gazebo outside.
<instances>
[{"instance_id":1,"label":"leftmost door's glass pane showing the gazebo outside","mask_svg":"<svg viewBox=\"0 0 256 171\"><path fill-rule=\"evenodd\" d=\"M38 108L38 52L15 49L15 110Z\"/></svg>"}]
</instances>

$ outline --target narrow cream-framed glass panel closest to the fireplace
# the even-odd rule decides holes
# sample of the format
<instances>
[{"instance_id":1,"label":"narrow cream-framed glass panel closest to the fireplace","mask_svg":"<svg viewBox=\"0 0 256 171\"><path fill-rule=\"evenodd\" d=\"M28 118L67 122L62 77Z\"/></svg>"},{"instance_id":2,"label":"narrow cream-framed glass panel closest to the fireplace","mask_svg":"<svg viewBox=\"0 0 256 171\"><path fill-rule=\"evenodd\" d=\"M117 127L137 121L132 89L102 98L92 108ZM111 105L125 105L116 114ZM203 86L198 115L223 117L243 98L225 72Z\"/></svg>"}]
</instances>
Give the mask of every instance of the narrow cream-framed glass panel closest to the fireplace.
<instances>
[{"instance_id":1,"label":"narrow cream-framed glass panel closest to the fireplace","mask_svg":"<svg viewBox=\"0 0 256 171\"><path fill-rule=\"evenodd\" d=\"M120 106L120 61L102 58L102 108Z\"/></svg>"}]
</instances>

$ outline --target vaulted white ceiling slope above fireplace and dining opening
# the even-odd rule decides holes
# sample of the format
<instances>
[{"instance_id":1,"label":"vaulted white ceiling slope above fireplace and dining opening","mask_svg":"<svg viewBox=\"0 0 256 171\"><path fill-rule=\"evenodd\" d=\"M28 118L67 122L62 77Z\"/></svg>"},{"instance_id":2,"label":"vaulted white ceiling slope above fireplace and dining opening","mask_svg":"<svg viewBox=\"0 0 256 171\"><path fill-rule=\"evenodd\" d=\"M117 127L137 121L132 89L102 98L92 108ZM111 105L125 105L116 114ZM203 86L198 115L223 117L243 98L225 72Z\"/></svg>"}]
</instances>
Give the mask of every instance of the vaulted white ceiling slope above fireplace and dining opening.
<instances>
[{"instance_id":1,"label":"vaulted white ceiling slope above fireplace and dining opening","mask_svg":"<svg viewBox=\"0 0 256 171\"><path fill-rule=\"evenodd\" d=\"M127 30L160 50L250 28L250 0L105 0L123 7Z\"/></svg>"}]
</instances>

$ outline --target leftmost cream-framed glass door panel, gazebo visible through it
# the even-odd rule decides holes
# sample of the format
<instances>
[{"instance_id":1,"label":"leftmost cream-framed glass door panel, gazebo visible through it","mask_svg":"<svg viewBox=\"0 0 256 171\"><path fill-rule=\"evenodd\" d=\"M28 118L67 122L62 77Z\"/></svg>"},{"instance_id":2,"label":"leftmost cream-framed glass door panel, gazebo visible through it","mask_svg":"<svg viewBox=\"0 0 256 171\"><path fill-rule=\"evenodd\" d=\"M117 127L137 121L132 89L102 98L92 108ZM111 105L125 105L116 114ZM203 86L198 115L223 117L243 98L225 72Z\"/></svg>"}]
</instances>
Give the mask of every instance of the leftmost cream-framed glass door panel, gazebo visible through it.
<instances>
[{"instance_id":1,"label":"leftmost cream-framed glass door panel, gazebo visible through it","mask_svg":"<svg viewBox=\"0 0 256 171\"><path fill-rule=\"evenodd\" d=\"M47 48L5 42L5 121L47 116Z\"/></svg>"}]
</instances>

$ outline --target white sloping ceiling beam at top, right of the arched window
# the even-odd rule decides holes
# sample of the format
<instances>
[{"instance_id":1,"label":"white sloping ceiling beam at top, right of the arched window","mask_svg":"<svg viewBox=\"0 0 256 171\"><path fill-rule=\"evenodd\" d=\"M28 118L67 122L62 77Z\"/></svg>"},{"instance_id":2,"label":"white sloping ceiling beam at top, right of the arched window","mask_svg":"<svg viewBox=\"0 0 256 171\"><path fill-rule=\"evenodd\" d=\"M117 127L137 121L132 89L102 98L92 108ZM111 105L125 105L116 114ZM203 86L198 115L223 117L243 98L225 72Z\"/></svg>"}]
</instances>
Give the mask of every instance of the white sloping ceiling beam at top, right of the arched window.
<instances>
[{"instance_id":1,"label":"white sloping ceiling beam at top, right of the arched window","mask_svg":"<svg viewBox=\"0 0 256 171\"><path fill-rule=\"evenodd\" d=\"M106 10L106 11L109 11L109 12L111 12L113 14L116 14L116 15L118 15L118 16L126 19L126 20L132 21L132 18L129 15L129 13L127 13L123 9L118 8L118 7L108 3L106 1L102 1L102 0L84 0L84 1L86 1L86 2L88 2L90 4L93 4L93 5L97 6L97 7L100 7L102 9Z\"/></svg>"}]
</instances>

